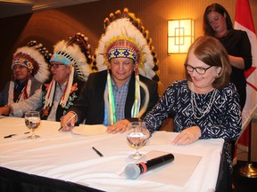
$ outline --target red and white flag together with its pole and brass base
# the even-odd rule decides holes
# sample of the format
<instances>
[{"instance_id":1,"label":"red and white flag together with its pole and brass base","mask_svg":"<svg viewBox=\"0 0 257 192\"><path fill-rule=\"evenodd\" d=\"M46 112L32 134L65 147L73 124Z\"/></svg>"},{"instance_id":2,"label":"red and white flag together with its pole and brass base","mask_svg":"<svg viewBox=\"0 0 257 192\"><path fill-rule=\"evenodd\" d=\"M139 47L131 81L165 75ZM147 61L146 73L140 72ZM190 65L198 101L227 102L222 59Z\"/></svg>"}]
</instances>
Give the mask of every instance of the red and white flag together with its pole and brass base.
<instances>
[{"instance_id":1,"label":"red and white flag together with its pole and brass base","mask_svg":"<svg viewBox=\"0 0 257 192\"><path fill-rule=\"evenodd\" d=\"M251 145L252 145L252 123L253 115L256 114L257 108L257 39L255 28L253 25L253 16L248 0L236 0L235 28L245 30L252 46L253 66L245 71L246 77L246 103L242 113L244 120L243 128L247 128L245 124L250 121L248 126L248 161L245 167L239 169L239 174L248 178L257 178L257 169L251 163ZM245 135L247 136L247 135Z\"/></svg>"}]
</instances>

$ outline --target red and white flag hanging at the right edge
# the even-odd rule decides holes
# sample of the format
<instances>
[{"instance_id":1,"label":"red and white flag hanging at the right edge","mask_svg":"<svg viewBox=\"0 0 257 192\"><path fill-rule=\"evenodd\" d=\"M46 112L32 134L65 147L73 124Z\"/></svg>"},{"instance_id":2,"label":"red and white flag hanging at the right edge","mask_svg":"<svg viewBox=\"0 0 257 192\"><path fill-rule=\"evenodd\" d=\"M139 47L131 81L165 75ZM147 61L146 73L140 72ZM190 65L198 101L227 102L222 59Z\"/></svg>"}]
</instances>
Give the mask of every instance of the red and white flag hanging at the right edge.
<instances>
[{"instance_id":1,"label":"red and white flag hanging at the right edge","mask_svg":"<svg viewBox=\"0 0 257 192\"><path fill-rule=\"evenodd\" d=\"M236 1L235 28L247 32L252 46L253 67L245 71L247 85L245 108L243 109L242 114L243 132L241 133L241 137L237 142L238 145L248 147L248 124L257 112L257 38L248 0Z\"/></svg>"}]
</instances>

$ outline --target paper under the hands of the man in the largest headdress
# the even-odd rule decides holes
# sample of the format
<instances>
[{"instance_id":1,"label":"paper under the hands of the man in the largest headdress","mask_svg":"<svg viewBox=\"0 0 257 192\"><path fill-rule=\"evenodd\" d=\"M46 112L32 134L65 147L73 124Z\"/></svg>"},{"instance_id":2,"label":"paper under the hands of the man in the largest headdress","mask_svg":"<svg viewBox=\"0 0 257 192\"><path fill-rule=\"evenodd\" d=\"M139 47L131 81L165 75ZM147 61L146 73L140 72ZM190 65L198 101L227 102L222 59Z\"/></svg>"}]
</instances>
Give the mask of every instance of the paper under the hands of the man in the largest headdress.
<instances>
[{"instance_id":1,"label":"paper under the hands of the man in the largest headdress","mask_svg":"<svg viewBox=\"0 0 257 192\"><path fill-rule=\"evenodd\" d=\"M72 129L72 132L79 135L93 136L107 134L106 130L107 127L103 124L79 124Z\"/></svg>"}]
</instances>

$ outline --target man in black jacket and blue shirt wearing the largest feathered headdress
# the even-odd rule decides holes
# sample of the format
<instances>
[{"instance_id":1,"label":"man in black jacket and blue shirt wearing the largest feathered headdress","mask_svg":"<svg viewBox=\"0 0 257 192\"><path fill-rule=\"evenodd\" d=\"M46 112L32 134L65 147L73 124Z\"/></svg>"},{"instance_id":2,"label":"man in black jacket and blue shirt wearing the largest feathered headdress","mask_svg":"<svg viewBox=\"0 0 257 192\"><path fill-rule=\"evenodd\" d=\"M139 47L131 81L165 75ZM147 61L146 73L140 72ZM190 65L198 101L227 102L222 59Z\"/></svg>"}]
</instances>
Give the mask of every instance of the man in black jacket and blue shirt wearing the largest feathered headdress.
<instances>
[{"instance_id":1,"label":"man in black jacket and blue shirt wearing the largest feathered headdress","mask_svg":"<svg viewBox=\"0 0 257 192\"><path fill-rule=\"evenodd\" d=\"M129 119L144 116L159 99L152 52L128 17L110 23L95 55L100 72L88 76L79 100L62 118L62 131L85 120L107 125L108 132L124 132Z\"/></svg>"}]
</instances>

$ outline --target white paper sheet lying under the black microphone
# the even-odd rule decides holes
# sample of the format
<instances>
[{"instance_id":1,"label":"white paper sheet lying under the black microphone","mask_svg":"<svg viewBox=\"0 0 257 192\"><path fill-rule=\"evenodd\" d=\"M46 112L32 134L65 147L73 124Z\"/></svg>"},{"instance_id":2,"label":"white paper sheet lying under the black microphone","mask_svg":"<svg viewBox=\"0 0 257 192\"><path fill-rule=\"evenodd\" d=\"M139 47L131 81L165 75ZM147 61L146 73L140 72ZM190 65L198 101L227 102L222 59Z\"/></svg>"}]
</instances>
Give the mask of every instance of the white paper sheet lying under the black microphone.
<instances>
[{"instance_id":1,"label":"white paper sheet lying under the black microphone","mask_svg":"<svg viewBox=\"0 0 257 192\"><path fill-rule=\"evenodd\" d=\"M163 156L165 154L168 153L153 150L138 159L137 163L145 160L147 161L157 156ZM202 156L189 156L176 153L172 154L174 156L173 162L157 167L149 172L145 172L144 174L141 174L137 180L151 180L167 185L184 187L187 180L189 180L192 173L195 171L195 168L197 164L199 164Z\"/></svg>"}]
</instances>

